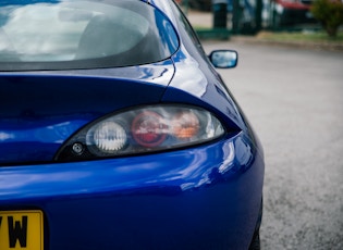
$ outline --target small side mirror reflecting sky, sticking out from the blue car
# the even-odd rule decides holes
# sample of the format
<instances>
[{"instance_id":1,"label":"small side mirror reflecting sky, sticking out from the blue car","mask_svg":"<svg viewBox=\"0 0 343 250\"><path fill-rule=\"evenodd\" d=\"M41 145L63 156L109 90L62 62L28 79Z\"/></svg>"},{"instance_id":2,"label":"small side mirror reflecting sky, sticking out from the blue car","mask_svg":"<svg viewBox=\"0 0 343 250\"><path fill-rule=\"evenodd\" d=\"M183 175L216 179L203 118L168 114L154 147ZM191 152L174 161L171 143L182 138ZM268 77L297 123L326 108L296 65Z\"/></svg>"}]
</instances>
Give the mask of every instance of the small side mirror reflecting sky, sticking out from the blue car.
<instances>
[{"instance_id":1,"label":"small side mirror reflecting sky, sticking out from the blue car","mask_svg":"<svg viewBox=\"0 0 343 250\"><path fill-rule=\"evenodd\" d=\"M231 68L237 65L238 53L234 50L213 50L209 54L209 60L215 67Z\"/></svg>"}]
</instances>

